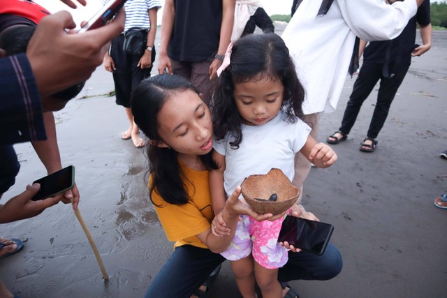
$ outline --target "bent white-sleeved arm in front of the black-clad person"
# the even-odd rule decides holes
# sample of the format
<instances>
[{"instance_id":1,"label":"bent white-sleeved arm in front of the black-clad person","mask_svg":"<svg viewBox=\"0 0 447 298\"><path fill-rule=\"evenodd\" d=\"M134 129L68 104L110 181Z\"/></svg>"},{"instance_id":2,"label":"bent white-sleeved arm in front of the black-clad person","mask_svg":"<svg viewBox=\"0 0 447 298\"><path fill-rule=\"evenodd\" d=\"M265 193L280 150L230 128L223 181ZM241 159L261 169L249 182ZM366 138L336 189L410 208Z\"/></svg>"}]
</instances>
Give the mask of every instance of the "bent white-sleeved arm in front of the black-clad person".
<instances>
[{"instance_id":1,"label":"bent white-sleeved arm in front of the black-clad person","mask_svg":"<svg viewBox=\"0 0 447 298\"><path fill-rule=\"evenodd\" d=\"M390 40L399 36L422 2L405 0L388 5L386 1L337 1L351 31L367 41Z\"/></svg>"}]
</instances>

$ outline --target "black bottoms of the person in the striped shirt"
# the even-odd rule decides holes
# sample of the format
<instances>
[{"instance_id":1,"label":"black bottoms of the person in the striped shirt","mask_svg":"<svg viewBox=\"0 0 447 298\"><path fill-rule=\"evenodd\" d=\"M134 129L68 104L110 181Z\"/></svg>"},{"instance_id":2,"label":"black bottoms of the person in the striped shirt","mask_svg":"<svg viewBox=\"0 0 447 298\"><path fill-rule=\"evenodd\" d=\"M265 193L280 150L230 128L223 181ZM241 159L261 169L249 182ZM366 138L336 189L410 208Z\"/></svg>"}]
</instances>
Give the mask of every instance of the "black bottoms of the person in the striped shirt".
<instances>
[{"instance_id":1,"label":"black bottoms of the person in the striped shirt","mask_svg":"<svg viewBox=\"0 0 447 298\"><path fill-rule=\"evenodd\" d=\"M123 50L124 35L120 34L112 40L110 46L110 57L112 57L115 67L113 72L113 82L115 83L115 96L117 105L131 107L131 94L138 84L151 76L152 66L155 61L155 47L152 50L152 65L149 68L141 69L138 65L139 56L126 54Z\"/></svg>"}]
</instances>

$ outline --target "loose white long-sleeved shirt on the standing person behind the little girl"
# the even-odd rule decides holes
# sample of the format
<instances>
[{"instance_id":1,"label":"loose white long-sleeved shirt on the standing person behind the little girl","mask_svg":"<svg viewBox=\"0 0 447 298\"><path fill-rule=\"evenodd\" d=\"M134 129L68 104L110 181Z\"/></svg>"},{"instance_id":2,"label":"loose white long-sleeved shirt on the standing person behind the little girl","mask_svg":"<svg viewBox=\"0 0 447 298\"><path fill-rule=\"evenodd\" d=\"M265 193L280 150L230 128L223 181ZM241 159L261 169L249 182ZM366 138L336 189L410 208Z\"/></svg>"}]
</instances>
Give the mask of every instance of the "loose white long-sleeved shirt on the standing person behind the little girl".
<instances>
[{"instance_id":1,"label":"loose white long-sleeved shirt on the standing person behind the little girl","mask_svg":"<svg viewBox=\"0 0 447 298\"><path fill-rule=\"evenodd\" d=\"M303 0L282 38L295 61L306 90L305 114L332 112L342 93L356 36L389 40L402 32L416 14L416 0L335 0L316 17L321 0Z\"/></svg>"}]
</instances>

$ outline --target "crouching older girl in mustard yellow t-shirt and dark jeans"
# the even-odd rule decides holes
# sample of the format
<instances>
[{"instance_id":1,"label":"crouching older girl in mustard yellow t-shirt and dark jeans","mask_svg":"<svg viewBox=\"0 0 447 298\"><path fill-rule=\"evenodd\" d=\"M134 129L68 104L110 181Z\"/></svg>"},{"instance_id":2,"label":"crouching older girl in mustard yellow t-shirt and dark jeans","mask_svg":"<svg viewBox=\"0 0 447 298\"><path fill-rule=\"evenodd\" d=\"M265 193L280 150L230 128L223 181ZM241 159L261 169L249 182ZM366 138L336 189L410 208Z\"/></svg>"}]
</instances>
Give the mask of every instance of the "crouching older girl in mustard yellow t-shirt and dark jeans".
<instances>
[{"instance_id":1,"label":"crouching older girl in mustard yellow t-shirt and dark jeans","mask_svg":"<svg viewBox=\"0 0 447 298\"><path fill-rule=\"evenodd\" d=\"M150 77L133 94L135 123L150 139L150 199L168 239L175 241L172 255L152 280L145 297L189 298L225 260L219 253L233 239L240 214L257 220L271 216L259 216L237 200L237 187L221 213L230 234L216 237L212 233L209 173L217 167L210 153L210 110L201 98L203 95L191 83L177 75ZM341 269L342 258L329 244L321 256L289 252L278 279L326 280L337 276Z\"/></svg>"}]
</instances>

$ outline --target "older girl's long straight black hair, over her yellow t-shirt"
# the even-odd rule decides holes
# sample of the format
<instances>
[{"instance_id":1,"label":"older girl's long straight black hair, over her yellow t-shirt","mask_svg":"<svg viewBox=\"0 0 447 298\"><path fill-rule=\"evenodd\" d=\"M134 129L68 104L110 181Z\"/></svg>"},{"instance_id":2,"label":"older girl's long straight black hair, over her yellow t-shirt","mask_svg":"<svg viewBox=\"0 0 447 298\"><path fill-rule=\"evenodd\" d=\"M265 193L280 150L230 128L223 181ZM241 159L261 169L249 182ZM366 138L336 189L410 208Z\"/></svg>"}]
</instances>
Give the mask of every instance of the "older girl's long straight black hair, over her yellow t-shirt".
<instances>
[{"instance_id":1,"label":"older girl's long straight black hair, over her yellow t-shirt","mask_svg":"<svg viewBox=\"0 0 447 298\"><path fill-rule=\"evenodd\" d=\"M132 95L132 114L135 124L150 140L163 141L158 133L158 123L162 120L158 119L161 107L170 96L186 90L199 94L198 89L191 82L177 75L156 75L138 84ZM163 120L169 121L169 119ZM152 193L156 191L169 204L188 203L190 198L187 195L185 183L189 180L179 165L177 151L152 144L148 144L147 147L149 173L152 174L152 184L149 186L151 202L155 204ZM198 158L208 170L216 168L210 153Z\"/></svg>"}]
</instances>

